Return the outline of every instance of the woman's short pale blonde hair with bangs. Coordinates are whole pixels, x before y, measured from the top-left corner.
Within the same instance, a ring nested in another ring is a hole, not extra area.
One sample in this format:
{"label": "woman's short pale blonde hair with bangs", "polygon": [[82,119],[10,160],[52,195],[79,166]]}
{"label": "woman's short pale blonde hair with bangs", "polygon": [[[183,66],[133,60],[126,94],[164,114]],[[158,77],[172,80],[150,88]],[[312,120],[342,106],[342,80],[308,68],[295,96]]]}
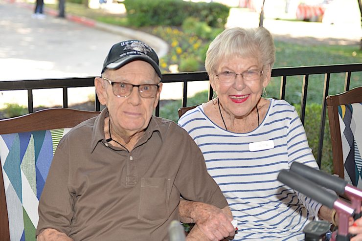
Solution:
{"label": "woman's short pale blonde hair with bangs", "polygon": [[275,62],[275,46],[271,33],[264,27],[225,29],[210,44],[206,52],[205,68],[211,76],[220,60],[233,56],[256,58],[271,71]]}

